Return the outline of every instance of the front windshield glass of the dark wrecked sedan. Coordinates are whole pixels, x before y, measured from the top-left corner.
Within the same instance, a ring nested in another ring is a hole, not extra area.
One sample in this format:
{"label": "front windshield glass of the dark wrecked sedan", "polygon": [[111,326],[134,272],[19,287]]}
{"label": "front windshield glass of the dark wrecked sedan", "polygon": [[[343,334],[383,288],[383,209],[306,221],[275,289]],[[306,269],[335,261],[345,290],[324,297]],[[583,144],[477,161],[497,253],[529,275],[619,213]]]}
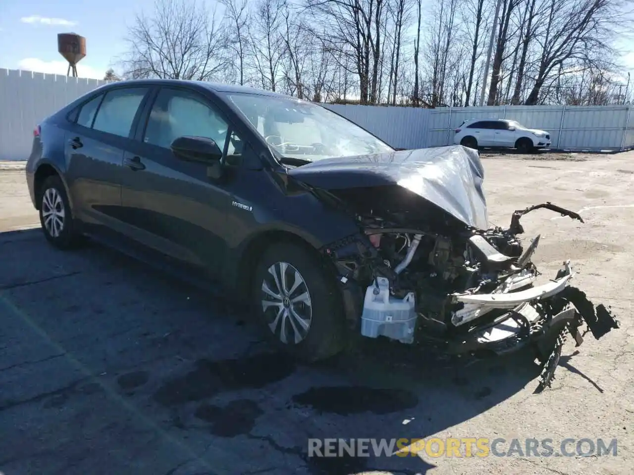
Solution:
{"label": "front windshield glass of the dark wrecked sedan", "polygon": [[229,99],[281,158],[313,162],[394,151],[353,122],[301,99],[258,94]]}

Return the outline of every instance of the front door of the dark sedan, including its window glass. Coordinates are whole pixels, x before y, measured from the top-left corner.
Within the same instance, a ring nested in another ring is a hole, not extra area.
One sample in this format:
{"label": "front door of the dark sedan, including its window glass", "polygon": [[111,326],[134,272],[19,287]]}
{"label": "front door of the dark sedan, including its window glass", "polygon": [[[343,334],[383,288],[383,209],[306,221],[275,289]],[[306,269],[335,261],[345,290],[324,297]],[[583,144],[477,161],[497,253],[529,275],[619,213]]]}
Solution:
{"label": "front door of the dark sedan, including its window glass", "polygon": [[207,137],[226,153],[227,120],[198,92],[162,87],[137,136],[124,154],[122,210],[129,237],[220,271],[230,239],[231,195],[223,179],[214,178],[214,164],[179,160],[170,145],[181,136]]}

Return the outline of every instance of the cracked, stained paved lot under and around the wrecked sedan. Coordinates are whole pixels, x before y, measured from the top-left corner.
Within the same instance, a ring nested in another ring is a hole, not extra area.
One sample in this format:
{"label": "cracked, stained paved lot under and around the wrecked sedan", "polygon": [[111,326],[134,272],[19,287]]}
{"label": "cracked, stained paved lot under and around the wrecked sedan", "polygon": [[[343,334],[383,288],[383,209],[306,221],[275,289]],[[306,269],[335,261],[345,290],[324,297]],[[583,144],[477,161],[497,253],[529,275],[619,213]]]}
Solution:
{"label": "cracked, stained paved lot under and around the wrecked sedan", "polygon": [[[581,213],[585,224],[545,210],[522,219],[526,238],[541,233],[534,261],[554,276],[571,259],[574,284],[621,324],[568,342],[540,394],[539,368],[521,354],[462,367],[377,346],[295,365],[212,296],[96,244],[53,250],[20,165],[4,163],[0,472],[631,474],[634,153],[482,156],[491,222],[544,201]],[[309,438],[434,436],[550,438],[555,451],[566,438],[616,438],[618,453],[306,456]]]}

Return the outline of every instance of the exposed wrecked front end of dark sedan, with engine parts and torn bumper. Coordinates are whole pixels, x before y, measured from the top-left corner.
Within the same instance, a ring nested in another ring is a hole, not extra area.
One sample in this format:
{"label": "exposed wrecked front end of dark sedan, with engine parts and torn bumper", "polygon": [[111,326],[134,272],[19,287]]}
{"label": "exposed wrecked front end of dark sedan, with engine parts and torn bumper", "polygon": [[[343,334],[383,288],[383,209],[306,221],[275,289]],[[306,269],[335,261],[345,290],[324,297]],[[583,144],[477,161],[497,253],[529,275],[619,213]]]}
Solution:
{"label": "exposed wrecked front end of dark sedan, with engine parts and torn bumper", "polygon": [[361,334],[431,343],[455,355],[501,355],[535,343],[545,368],[540,384],[550,385],[565,333],[578,346],[584,321],[595,338],[618,322],[568,287],[569,262],[550,282],[534,286],[540,272],[531,257],[540,236],[524,247],[517,234],[524,231],[519,218],[540,208],[583,222],[551,203],[516,211],[508,229],[465,227],[451,236],[359,216],[365,236],[326,252],[344,286],[354,281],[365,289]]}

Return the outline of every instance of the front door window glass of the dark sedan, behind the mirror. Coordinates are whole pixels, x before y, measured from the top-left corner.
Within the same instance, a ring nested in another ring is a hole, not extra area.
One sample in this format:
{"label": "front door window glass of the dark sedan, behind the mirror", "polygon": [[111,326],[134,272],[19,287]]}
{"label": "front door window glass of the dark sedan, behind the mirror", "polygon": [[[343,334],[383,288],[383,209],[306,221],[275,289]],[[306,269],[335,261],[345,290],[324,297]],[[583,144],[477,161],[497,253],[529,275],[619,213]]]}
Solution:
{"label": "front door window glass of the dark sedan, behind the mirror", "polygon": [[228,128],[219,111],[195,92],[164,88],[150,111],[143,141],[169,148],[178,137],[205,137],[224,150]]}

